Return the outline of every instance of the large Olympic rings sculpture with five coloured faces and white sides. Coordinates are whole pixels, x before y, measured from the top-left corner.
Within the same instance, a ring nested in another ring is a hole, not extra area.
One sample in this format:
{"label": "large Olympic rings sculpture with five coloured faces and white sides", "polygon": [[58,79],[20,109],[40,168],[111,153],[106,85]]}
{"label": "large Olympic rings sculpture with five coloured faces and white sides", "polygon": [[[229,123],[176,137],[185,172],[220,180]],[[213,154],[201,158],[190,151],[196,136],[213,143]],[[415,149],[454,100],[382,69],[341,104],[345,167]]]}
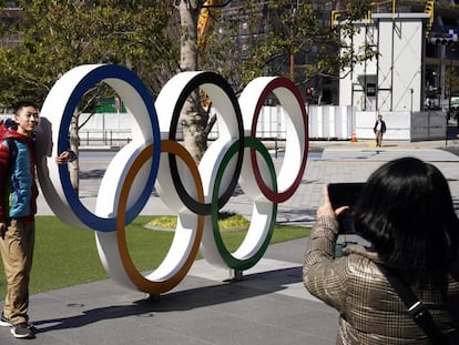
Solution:
{"label": "large Olympic rings sculpture with five coloured faces and white sides", "polygon": [[[136,126],[133,141],[109,164],[93,213],[74,193],[68,166],[55,164],[54,156],[68,149],[69,126],[79,101],[99,82],[108,83],[120,95]],[[198,166],[175,138],[182,106],[197,88],[210,95],[218,119],[218,139]],[[258,114],[272,93],[286,114],[285,158],[278,173],[267,149],[255,138]],[[254,266],[269,244],[277,204],[295,193],[307,161],[305,106],[297,88],[285,78],[257,78],[237,99],[216,73],[183,72],[173,77],[154,101],[126,68],[86,64],[57,81],[41,116],[37,168],[50,207],[64,222],[94,230],[101,262],[116,283],[150,294],[176,286],[200,248],[213,265],[236,271]],[[217,214],[237,184],[253,200],[253,213],[243,243],[231,253],[221,237]],[[144,276],[130,257],[124,231],[153,187],[177,214],[177,227],[163,262]]]}

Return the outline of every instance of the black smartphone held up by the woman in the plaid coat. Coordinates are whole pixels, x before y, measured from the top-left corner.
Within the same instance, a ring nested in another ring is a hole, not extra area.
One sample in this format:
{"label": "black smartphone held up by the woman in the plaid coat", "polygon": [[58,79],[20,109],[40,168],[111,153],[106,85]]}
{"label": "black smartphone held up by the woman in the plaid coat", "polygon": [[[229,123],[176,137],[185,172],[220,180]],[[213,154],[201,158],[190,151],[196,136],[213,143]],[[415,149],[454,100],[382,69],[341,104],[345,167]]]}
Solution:
{"label": "black smartphone held up by the woman in the plaid coat", "polygon": [[349,206],[350,210],[338,216],[339,234],[354,234],[353,207],[360,195],[364,182],[330,183],[328,184],[328,197],[334,210]]}

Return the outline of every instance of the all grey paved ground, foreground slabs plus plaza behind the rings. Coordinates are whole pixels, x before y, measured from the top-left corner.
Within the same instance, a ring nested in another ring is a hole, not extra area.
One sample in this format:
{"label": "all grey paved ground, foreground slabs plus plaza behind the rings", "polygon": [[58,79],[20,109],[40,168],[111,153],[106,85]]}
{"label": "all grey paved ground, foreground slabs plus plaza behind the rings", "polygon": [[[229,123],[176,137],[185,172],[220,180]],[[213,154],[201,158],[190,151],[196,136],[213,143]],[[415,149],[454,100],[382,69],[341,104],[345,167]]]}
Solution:
{"label": "all grey paved ground, foreground slabs plus plaza behind the rings", "polygon": [[[459,142],[314,142],[322,160],[307,162],[294,197],[278,209],[278,223],[314,222],[322,189],[329,182],[365,181],[384,162],[418,156],[437,165],[448,179],[459,212]],[[279,164],[279,162],[276,162]],[[86,166],[100,170],[103,162]],[[93,207],[98,179],[82,181],[82,200]],[[41,214],[51,211],[40,200]],[[251,217],[252,201],[233,196],[225,207]],[[143,214],[170,214],[152,195]],[[225,282],[228,272],[196,261],[177,287],[156,301],[128,291],[111,280],[31,296],[30,316],[39,333],[34,344],[335,344],[338,315],[312,297],[302,284],[306,239],[271,245],[244,280]],[[17,344],[0,328],[0,344]]]}

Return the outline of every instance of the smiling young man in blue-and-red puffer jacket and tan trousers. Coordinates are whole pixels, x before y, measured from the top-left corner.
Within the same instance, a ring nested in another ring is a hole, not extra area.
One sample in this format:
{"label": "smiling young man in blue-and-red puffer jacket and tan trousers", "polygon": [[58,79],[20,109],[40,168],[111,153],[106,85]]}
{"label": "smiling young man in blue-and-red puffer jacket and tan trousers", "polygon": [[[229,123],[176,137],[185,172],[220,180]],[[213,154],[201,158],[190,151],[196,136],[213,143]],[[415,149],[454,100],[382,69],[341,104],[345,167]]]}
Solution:
{"label": "smiling young man in blue-and-red puffer jacket and tan trousers", "polygon": [[[4,134],[9,140],[0,142],[0,252],[7,277],[0,326],[11,327],[17,338],[34,337],[28,310],[38,196],[34,132],[39,118],[34,102],[19,102]],[[69,153],[63,152],[55,161],[64,164],[68,158]]]}

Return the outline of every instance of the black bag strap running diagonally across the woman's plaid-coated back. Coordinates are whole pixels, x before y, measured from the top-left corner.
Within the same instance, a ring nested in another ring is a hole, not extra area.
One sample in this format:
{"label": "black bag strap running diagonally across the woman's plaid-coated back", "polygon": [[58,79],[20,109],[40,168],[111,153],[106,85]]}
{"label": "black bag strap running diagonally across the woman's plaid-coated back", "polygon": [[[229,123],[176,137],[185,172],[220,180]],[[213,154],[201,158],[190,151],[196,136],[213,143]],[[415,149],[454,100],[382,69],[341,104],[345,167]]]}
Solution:
{"label": "black bag strap running diagonally across the woman's plaid-coated back", "polygon": [[409,316],[411,316],[415,323],[422,328],[432,344],[448,344],[446,336],[440,331],[438,325],[434,322],[429,310],[422,304],[422,302],[418,300],[416,294],[400,277],[400,275],[392,270],[389,272],[389,270],[382,265],[377,265],[390,285],[394,287],[396,293],[399,295],[400,300],[404,302],[405,306],[408,310]]}

